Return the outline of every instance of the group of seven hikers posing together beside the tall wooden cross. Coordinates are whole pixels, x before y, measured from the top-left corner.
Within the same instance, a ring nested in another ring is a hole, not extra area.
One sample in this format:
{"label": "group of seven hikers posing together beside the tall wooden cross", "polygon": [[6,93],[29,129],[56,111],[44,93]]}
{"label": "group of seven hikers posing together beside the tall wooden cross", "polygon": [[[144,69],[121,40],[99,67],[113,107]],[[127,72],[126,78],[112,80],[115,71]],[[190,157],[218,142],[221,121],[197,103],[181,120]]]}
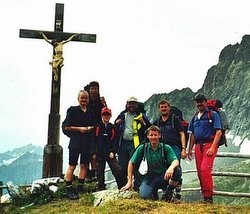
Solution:
{"label": "group of seven hikers posing together beside the tall wooden cross", "polygon": [[[98,190],[106,189],[108,163],[121,191],[134,190],[143,199],[175,202],[181,200],[181,159],[195,155],[197,174],[205,203],[213,203],[212,168],[222,135],[220,116],[207,108],[207,97],[194,97],[197,113],[185,127],[171,112],[171,104],[158,104],[159,118],[150,121],[137,98],[130,97],[126,108],[110,122],[112,111],[100,96],[99,83],[90,82],[78,94],[78,106],[70,107],[62,131],[70,138],[69,166],[65,173],[66,194],[78,199],[84,182],[97,180]],[[77,186],[74,170],[80,158]],[[90,167],[89,167],[90,166]]]}

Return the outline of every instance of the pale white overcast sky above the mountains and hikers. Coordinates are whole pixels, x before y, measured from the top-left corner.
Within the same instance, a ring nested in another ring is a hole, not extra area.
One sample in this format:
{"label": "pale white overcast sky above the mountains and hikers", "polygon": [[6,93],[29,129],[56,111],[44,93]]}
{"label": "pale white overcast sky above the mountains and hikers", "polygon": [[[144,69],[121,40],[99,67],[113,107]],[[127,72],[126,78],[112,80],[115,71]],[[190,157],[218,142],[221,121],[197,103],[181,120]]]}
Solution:
{"label": "pale white overcast sky above the mountains and hikers", "polygon": [[64,46],[61,122],[93,80],[112,121],[129,96],[197,91],[220,51],[250,32],[249,0],[1,0],[0,152],[47,143],[52,46],[19,38],[19,29],[53,31],[55,3],[64,3],[65,32],[97,35]]}

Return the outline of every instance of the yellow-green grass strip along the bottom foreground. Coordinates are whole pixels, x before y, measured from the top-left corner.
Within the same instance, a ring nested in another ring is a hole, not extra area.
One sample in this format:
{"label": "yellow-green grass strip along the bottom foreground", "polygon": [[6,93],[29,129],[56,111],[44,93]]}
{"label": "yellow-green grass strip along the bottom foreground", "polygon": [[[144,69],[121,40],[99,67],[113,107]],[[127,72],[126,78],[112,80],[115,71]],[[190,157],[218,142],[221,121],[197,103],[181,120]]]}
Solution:
{"label": "yellow-green grass strip along the bottom foreground", "polygon": [[[0,210],[1,212],[1,210]],[[250,213],[250,206],[236,205],[207,205],[201,203],[171,204],[161,201],[141,200],[138,198],[110,201],[98,207],[93,207],[86,195],[82,195],[79,201],[66,199],[55,200],[52,203],[29,207],[26,209],[2,207],[1,213]]]}

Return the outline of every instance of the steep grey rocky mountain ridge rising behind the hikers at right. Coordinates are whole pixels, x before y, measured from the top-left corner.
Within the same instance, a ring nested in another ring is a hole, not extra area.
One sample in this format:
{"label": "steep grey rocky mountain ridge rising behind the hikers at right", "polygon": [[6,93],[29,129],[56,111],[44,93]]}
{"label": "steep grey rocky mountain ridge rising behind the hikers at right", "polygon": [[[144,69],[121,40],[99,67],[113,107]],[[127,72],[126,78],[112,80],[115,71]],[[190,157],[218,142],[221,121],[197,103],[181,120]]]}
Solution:
{"label": "steep grey rocky mountain ridge rising behind the hikers at right", "polygon": [[209,99],[220,99],[226,110],[233,138],[240,136],[242,143],[250,146],[250,35],[242,37],[241,43],[227,45],[219,54],[219,61],[208,69],[202,87],[193,92],[190,88],[154,94],[145,103],[147,116],[155,120],[158,103],[167,99],[178,106],[184,118],[191,120],[196,107],[193,98],[196,93],[205,93]]}

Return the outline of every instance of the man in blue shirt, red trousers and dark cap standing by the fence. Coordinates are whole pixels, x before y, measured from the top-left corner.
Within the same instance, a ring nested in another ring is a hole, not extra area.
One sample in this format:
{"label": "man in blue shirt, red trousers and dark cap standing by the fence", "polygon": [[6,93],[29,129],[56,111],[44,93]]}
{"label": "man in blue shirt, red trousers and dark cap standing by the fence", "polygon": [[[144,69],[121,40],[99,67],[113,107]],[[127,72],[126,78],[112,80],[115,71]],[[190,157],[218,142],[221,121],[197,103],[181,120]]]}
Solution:
{"label": "man in blue shirt, red trousers and dark cap standing by the fence", "polygon": [[198,112],[188,127],[191,133],[188,158],[192,159],[192,150],[195,145],[195,162],[204,202],[212,204],[212,169],[221,137],[221,120],[217,112],[207,108],[207,98],[204,94],[197,94],[194,101]]}

